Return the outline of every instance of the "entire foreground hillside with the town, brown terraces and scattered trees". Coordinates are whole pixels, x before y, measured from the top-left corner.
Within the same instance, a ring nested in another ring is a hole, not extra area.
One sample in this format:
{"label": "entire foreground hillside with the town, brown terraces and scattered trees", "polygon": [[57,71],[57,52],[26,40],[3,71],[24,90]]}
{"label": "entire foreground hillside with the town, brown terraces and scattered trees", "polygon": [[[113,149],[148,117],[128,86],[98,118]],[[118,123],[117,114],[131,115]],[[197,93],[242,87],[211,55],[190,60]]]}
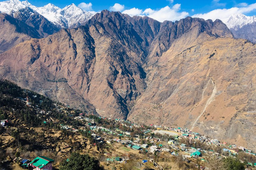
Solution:
{"label": "entire foreground hillside with the town, brown terraces and scattered trees", "polygon": [[[137,169],[165,170],[168,160],[169,169],[208,170],[210,159],[229,157],[237,158],[247,169],[256,168],[254,151],[188,128],[102,117],[52,102],[29,90],[20,93],[23,95],[12,98],[22,106],[20,109],[13,107],[9,112],[1,107],[0,147],[4,152],[0,165],[8,165],[6,169],[59,169],[77,151],[97,158],[105,169],[125,169],[136,162],[133,166]],[[28,115],[19,117],[24,109]]]}

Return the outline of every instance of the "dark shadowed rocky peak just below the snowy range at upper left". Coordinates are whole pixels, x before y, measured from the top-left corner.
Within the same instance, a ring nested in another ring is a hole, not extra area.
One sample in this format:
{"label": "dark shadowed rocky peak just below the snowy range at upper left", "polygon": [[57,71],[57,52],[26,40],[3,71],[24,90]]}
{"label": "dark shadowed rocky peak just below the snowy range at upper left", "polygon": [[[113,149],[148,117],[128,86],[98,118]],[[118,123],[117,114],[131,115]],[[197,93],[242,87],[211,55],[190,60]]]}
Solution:
{"label": "dark shadowed rocky peak just below the snowy range at upper left", "polygon": [[22,8],[16,11],[13,13],[13,17],[35,28],[42,37],[47,37],[48,35],[60,30],[58,26],[48,21],[48,19],[44,18],[30,7]]}

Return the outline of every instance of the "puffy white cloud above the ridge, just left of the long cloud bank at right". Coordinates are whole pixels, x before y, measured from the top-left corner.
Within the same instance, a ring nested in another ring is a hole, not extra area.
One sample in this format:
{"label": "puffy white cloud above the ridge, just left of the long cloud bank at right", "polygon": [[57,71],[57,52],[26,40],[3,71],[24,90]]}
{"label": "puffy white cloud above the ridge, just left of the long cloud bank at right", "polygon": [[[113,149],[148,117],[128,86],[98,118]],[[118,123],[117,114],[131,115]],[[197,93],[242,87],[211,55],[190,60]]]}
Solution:
{"label": "puffy white cloud above the ridge, just left of the long cloud bank at right", "polygon": [[[160,22],[163,22],[165,20],[168,21],[176,21],[180,20],[182,18],[185,18],[189,15],[188,12],[179,12],[180,11],[180,4],[175,4],[171,8],[169,6],[165,6],[164,8],[161,8],[159,10],[152,10],[150,13],[148,13],[148,17],[156,19]],[[145,14],[147,14],[144,11]]]}

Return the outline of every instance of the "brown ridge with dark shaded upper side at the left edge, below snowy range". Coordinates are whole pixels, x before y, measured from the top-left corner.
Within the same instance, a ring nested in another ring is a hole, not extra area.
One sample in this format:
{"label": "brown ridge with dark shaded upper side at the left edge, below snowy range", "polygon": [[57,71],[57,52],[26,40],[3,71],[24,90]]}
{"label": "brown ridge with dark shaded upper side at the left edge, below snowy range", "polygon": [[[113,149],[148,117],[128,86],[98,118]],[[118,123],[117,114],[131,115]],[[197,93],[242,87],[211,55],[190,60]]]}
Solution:
{"label": "brown ridge with dark shaded upper side at the left edge, below snowy range", "polygon": [[36,29],[7,14],[0,14],[0,53],[20,42],[41,38]]}

